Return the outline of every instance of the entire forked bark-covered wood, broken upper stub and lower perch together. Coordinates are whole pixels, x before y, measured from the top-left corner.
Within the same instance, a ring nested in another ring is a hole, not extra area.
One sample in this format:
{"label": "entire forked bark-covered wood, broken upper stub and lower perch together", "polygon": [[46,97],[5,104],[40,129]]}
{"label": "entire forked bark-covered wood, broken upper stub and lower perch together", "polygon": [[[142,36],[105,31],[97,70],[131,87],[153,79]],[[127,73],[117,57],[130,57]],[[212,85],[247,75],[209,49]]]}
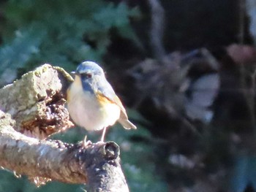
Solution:
{"label": "entire forked bark-covered wood, broken upper stub and lower perch together", "polygon": [[36,185],[57,180],[86,183],[88,191],[129,191],[115,142],[84,146],[42,139],[72,126],[64,108],[71,80],[46,64],[0,90],[0,166]]}

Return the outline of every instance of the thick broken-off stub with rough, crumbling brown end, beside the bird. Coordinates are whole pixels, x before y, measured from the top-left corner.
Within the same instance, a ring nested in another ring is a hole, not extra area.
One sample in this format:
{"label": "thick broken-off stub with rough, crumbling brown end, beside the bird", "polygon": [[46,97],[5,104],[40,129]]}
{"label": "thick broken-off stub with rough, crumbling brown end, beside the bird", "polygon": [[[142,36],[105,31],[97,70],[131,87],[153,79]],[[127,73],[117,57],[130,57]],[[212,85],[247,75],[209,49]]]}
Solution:
{"label": "thick broken-off stub with rough, crumbling brown end, beside the bird", "polygon": [[44,139],[72,126],[64,107],[72,77],[63,69],[45,64],[0,89],[0,110],[12,115],[15,130]]}

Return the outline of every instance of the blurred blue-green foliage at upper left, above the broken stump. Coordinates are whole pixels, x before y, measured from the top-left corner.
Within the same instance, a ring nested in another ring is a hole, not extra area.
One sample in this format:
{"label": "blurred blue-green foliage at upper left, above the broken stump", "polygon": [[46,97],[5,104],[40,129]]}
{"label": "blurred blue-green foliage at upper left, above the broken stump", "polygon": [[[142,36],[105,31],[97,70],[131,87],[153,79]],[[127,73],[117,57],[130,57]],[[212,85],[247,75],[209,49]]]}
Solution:
{"label": "blurred blue-green foliage at upper left, above the broken stump", "polygon": [[[50,63],[69,71],[74,69],[72,64],[83,60],[102,61],[111,43],[111,31],[138,41],[129,18],[138,17],[140,12],[122,2],[7,1],[2,11],[6,20],[1,26],[2,75],[7,73],[6,66],[15,73],[20,68],[24,72]],[[0,84],[8,82],[4,77]]]}

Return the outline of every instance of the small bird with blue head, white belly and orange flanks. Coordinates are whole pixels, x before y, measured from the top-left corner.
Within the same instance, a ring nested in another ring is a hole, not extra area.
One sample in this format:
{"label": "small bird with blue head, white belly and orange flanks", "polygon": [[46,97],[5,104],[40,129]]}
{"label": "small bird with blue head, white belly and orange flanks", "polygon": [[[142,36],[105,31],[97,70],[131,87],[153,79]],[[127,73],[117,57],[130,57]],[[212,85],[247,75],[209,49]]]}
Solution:
{"label": "small bird with blue head, white belly and orange flanks", "polygon": [[108,126],[118,121],[124,128],[136,128],[106,80],[103,69],[93,61],[83,61],[75,71],[75,80],[67,90],[67,109],[78,126],[88,131],[103,129],[104,141]]}

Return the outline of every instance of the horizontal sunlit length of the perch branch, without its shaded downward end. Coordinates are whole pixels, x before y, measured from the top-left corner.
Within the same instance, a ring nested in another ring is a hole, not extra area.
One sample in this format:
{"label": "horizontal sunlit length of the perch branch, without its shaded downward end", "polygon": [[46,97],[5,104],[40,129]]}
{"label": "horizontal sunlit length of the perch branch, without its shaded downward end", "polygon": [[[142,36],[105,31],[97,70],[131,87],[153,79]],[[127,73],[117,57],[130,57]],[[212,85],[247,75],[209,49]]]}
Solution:
{"label": "horizontal sunlit length of the perch branch, without its shaded downward end", "polygon": [[[17,174],[45,177],[65,183],[86,183],[86,174],[75,159],[74,145],[26,137],[10,125],[10,116],[1,112],[0,165]],[[9,120],[8,120],[9,118]]]}

